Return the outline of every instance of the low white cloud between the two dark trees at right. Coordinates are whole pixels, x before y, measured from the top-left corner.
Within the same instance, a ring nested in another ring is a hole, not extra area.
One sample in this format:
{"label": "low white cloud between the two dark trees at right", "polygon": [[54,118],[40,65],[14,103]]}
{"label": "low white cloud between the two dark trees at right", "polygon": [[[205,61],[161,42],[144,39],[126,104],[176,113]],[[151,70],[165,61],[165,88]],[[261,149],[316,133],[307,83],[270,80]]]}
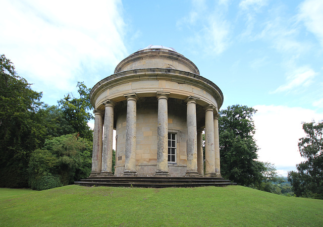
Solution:
{"label": "low white cloud between the two dark trees at right", "polygon": [[275,105],[256,105],[258,111],[253,120],[256,127],[254,138],[260,150],[260,161],[276,165],[279,173],[286,176],[287,171],[303,161],[299,154],[299,139],[305,136],[302,122],[316,122],[323,119],[323,113],[301,107]]}

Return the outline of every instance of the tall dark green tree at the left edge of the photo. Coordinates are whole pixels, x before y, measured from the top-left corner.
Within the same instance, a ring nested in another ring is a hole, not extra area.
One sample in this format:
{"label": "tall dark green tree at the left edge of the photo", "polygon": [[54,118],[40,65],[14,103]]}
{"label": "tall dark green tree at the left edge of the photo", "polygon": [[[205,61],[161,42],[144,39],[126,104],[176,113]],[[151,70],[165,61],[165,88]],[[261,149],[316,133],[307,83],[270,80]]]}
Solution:
{"label": "tall dark green tree at the left edge of the photo", "polygon": [[0,187],[28,186],[30,153],[42,146],[46,129],[33,91],[5,55],[0,57]]}

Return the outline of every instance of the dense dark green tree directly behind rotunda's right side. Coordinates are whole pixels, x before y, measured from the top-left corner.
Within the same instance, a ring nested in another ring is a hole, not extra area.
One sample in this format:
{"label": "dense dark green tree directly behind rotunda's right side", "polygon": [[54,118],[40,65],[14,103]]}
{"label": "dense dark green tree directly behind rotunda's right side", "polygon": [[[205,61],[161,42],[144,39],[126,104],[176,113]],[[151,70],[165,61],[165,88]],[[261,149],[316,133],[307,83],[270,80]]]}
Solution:
{"label": "dense dark green tree directly behind rotunda's right side", "polygon": [[257,161],[258,147],[253,138],[255,109],[232,105],[220,111],[219,136],[221,174],[239,185],[259,186],[265,166]]}

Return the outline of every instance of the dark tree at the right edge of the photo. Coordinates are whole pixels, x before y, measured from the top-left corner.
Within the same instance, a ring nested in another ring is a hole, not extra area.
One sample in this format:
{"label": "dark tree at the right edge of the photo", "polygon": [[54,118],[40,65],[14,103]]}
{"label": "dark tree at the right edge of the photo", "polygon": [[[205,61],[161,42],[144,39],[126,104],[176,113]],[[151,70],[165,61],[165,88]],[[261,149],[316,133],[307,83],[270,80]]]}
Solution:
{"label": "dark tree at the right edge of the photo", "polygon": [[306,160],[288,173],[288,181],[296,196],[323,199],[323,121],[303,123],[303,130],[298,149]]}

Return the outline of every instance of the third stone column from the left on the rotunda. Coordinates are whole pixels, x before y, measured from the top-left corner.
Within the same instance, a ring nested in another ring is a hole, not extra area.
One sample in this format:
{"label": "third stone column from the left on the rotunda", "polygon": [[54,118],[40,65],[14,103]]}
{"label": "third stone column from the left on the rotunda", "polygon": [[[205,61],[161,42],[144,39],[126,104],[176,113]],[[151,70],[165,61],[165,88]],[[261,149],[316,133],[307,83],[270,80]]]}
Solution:
{"label": "third stone column from the left on the rotunda", "polygon": [[127,97],[126,125],[126,160],[124,175],[137,175],[136,172],[136,129],[137,129],[137,96],[135,93]]}

